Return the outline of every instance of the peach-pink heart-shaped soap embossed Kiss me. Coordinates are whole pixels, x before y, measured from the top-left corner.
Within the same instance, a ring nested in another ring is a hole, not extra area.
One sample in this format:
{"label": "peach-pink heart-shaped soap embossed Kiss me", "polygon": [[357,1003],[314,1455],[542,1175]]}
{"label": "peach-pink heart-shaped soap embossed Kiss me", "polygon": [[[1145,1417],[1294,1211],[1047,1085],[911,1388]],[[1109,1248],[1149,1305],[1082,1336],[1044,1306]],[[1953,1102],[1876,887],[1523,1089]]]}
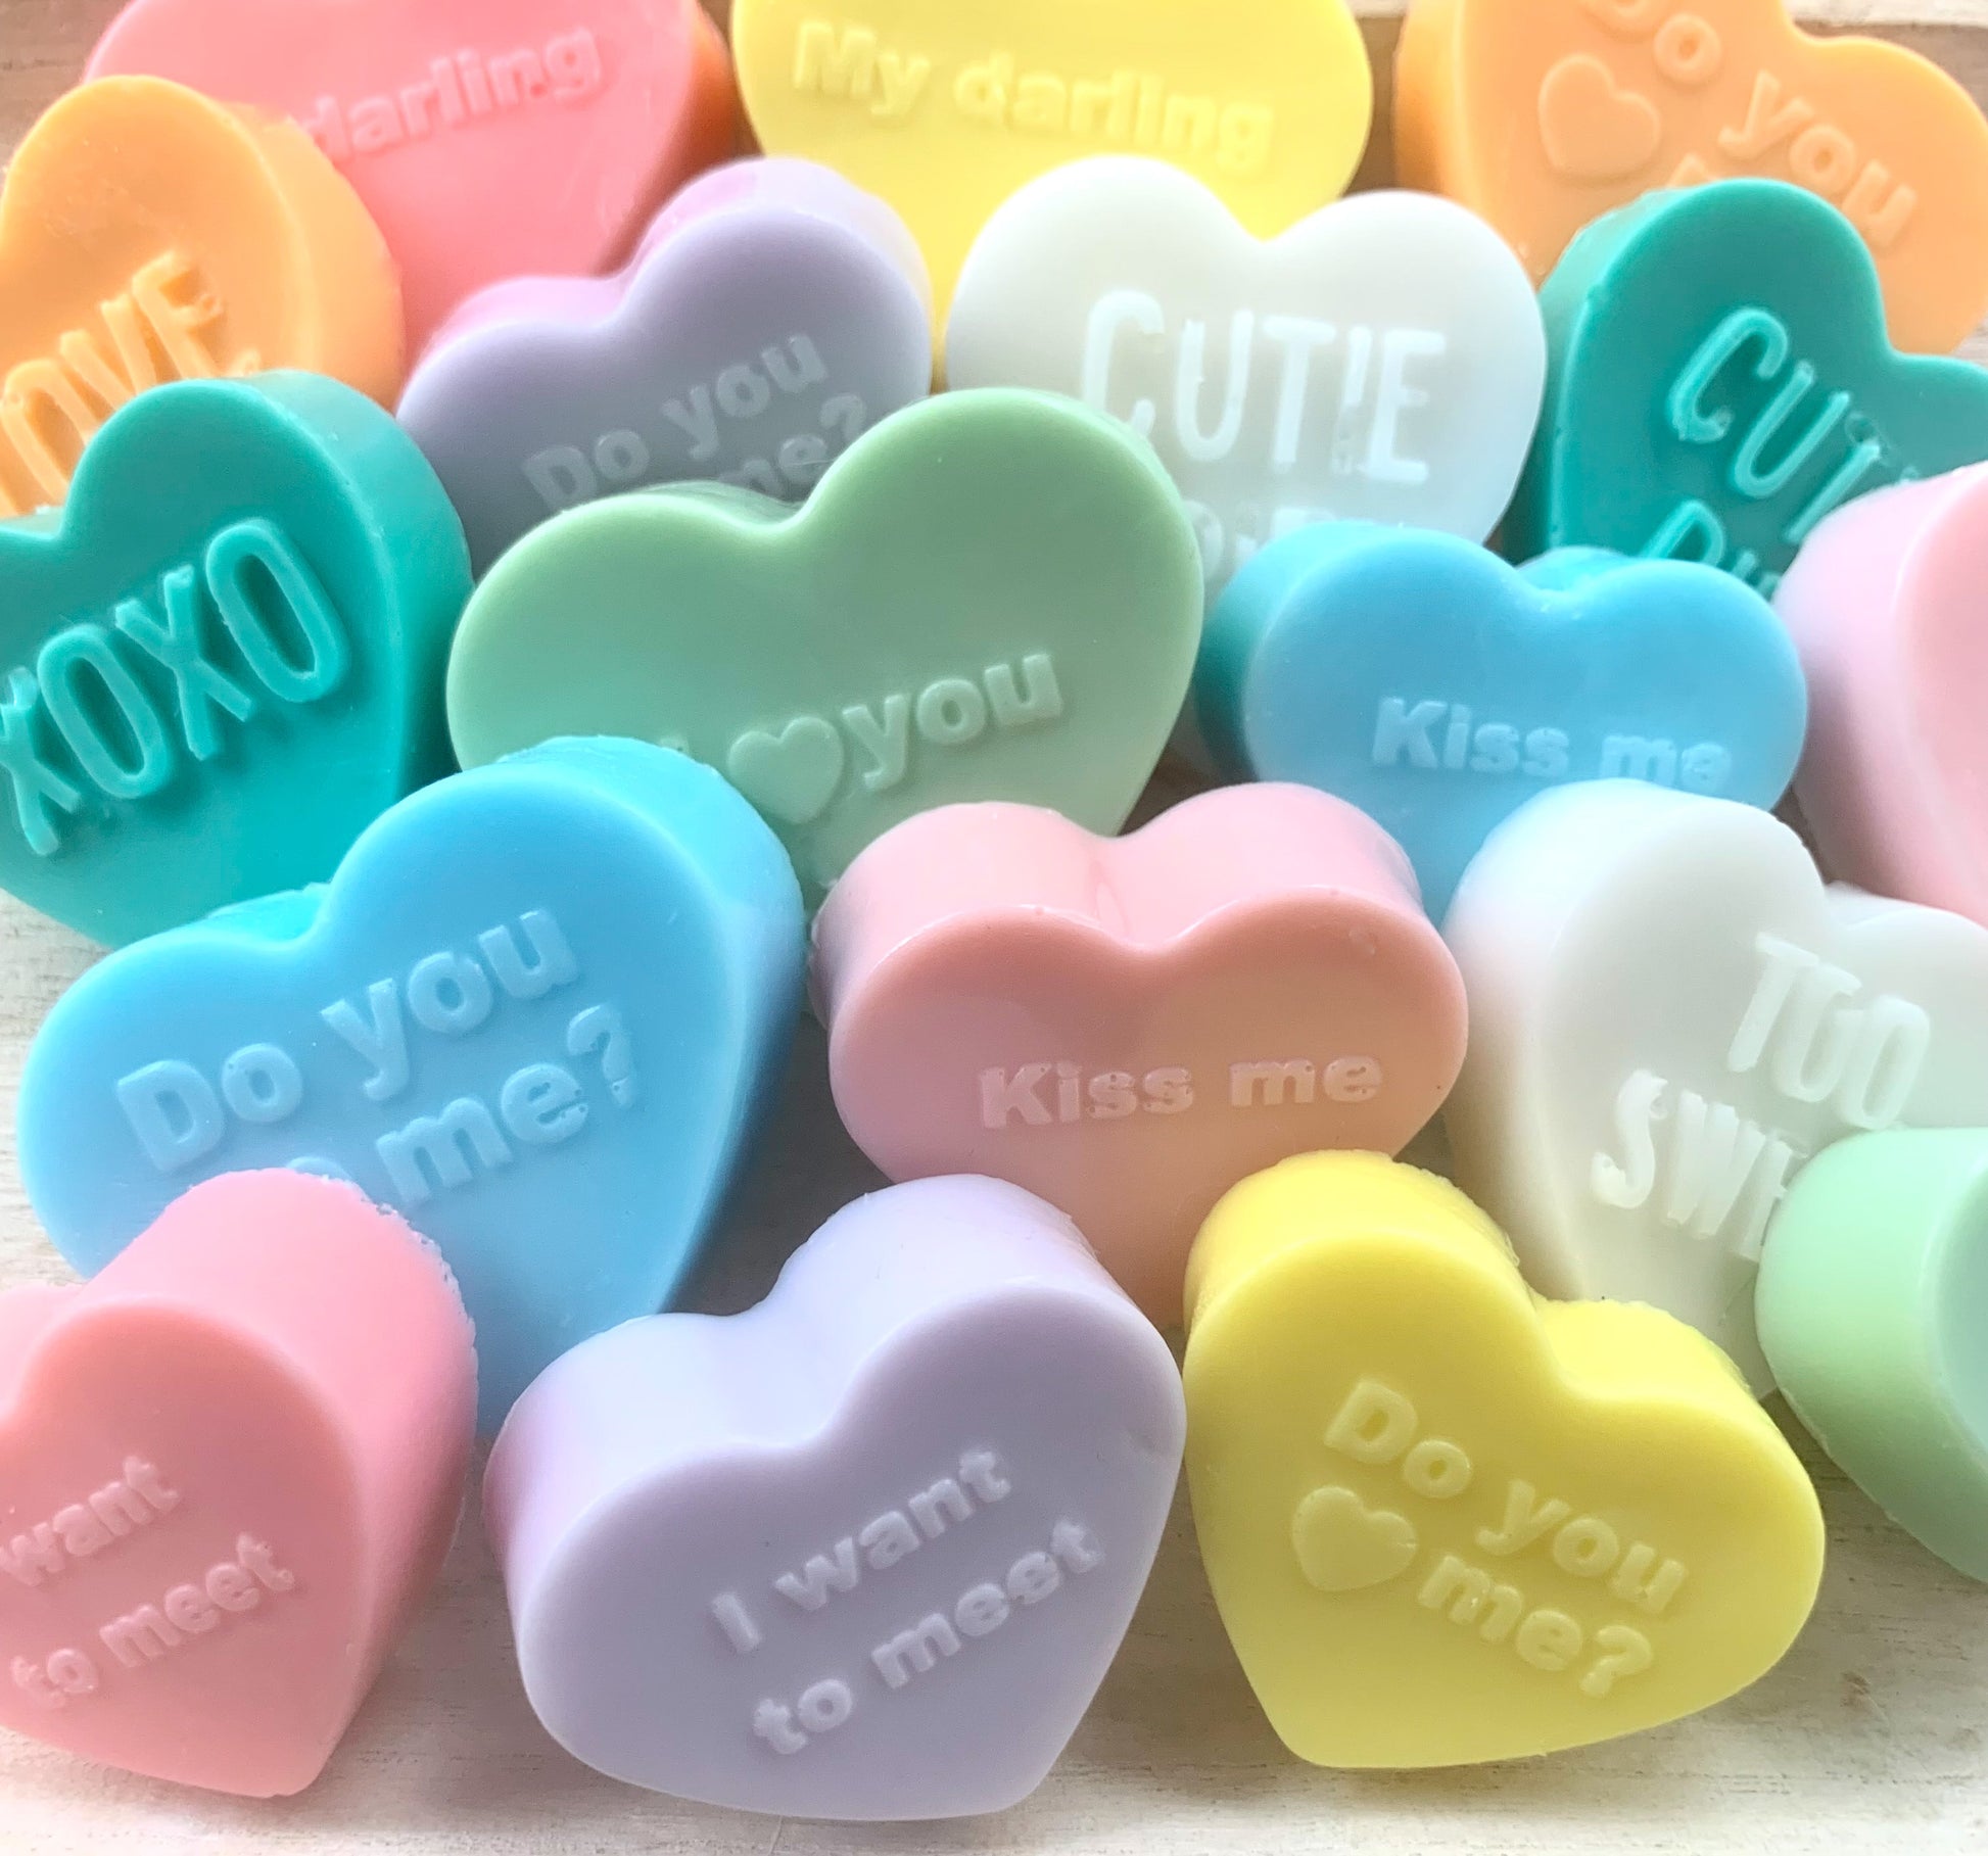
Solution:
{"label": "peach-pink heart-shaped soap embossed Kiss me", "polygon": [[1129,839],[1016,805],[899,825],[815,922],[843,1123],[893,1178],[982,1172],[1070,1212],[1155,1321],[1242,1174],[1398,1153],[1463,1061],[1463,986],[1400,849],[1308,787]]}

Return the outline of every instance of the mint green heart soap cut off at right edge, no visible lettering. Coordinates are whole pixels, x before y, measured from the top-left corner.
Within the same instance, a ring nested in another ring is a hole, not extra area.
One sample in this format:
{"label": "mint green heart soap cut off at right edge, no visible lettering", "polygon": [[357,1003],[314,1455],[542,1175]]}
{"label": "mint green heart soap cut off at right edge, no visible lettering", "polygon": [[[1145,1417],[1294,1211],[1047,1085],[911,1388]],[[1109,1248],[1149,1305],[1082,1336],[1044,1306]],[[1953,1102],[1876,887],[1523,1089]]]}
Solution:
{"label": "mint green heart soap cut off at right edge, no visible lettering", "polygon": [[1988,1580],[1988,1133],[1841,1141],[1767,1230],[1755,1319],[1787,1403],[1899,1526]]}

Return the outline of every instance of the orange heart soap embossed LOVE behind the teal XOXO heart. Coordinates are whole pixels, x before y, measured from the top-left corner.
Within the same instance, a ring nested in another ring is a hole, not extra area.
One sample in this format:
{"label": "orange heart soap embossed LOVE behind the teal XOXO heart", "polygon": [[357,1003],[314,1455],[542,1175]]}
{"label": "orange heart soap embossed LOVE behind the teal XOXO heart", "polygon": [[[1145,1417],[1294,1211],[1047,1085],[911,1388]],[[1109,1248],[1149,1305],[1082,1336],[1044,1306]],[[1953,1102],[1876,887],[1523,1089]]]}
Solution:
{"label": "orange heart soap embossed LOVE behind the teal XOXO heart", "polygon": [[62,503],[83,445],[165,380],[304,368],[384,405],[400,282],[288,123],[119,77],[56,103],[0,195],[0,517]]}

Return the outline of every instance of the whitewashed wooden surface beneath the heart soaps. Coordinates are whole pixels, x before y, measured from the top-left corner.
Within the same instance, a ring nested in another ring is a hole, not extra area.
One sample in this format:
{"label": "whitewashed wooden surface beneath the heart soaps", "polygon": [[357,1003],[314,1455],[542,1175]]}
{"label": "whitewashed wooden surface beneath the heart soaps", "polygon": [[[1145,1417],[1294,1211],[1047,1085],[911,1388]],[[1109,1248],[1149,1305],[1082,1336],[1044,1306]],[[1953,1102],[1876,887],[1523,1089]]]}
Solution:
{"label": "whitewashed wooden surface beneath the heart soaps", "polygon": [[[0,0],[0,145],[74,81],[111,10],[113,0]],[[1362,0],[1358,10],[1374,16],[1370,36],[1386,50],[1402,0]],[[1883,24],[1988,95],[1988,0],[1819,0],[1797,12]],[[28,1037],[89,958],[76,936],[0,898],[0,1131],[14,1123]],[[835,1127],[819,1033],[803,1035],[767,1155],[704,1284],[706,1308],[755,1300],[793,1244],[877,1182]],[[0,1290],[66,1274],[34,1228],[12,1143],[0,1135]],[[0,1735],[0,1852],[1980,1856],[1988,1592],[1889,1528],[1827,1465],[1815,1469],[1831,1562],[1815,1622],[1787,1661],[1696,1721],[1553,1761],[1392,1777],[1294,1765],[1250,1703],[1177,1512],[1117,1667],[1026,1806],[982,1822],[893,1828],[696,1810],[596,1779],[543,1735],[519,1691],[501,1590],[471,1522],[417,1629],[304,1798],[205,1798]]]}

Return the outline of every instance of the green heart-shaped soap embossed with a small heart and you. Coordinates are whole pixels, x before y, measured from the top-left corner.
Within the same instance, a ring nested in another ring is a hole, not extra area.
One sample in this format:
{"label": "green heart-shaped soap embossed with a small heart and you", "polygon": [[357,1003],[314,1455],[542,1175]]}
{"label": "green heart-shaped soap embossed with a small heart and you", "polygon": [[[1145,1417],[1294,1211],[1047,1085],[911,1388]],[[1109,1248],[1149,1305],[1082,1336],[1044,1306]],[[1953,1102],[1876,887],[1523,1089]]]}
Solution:
{"label": "green heart-shaped soap embossed with a small heart and you", "polygon": [[1201,552],[1139,437],[1052,393],[946,393],[809,503],[724,485],[575,509],[505,554],[449,660],[465,767],[634,735],[722,771],[813,894],[976,799],[1111,833],[1187,692]]}

